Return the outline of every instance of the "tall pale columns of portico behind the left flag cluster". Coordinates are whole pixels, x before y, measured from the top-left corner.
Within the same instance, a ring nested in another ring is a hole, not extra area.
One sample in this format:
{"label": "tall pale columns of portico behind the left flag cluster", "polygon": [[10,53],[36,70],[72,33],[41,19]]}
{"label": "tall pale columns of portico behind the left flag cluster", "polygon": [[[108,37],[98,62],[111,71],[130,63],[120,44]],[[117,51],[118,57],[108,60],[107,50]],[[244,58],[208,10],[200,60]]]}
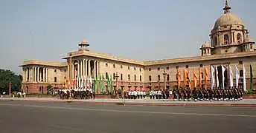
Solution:
{"label": "tall pale columns of portico behind the left flag cluster", "polygon": [[[74,60],[71,64],[71,68],[68,66],[68,71],[71,71],[71,75],[68,77],[77,78],[84,76],[92,76],[92,78],[100,75],[100,61],[90,59]],[[70,72],[68,72],[69,74]]]}

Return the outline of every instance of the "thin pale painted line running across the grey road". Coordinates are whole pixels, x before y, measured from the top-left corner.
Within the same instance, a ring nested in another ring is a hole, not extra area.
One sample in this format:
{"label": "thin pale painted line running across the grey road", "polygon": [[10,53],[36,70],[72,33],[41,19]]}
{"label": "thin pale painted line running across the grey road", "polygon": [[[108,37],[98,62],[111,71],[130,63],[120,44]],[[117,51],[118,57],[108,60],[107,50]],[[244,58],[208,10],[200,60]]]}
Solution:
{"label": "thin pale painted line running across the grey road", "polygon": [[179,112],[144,112],[132,110],[109,110],[109,109],[87,109],[87,108],[71,108],[71,107],[57,107],[57,106],[32,106],[25,104],[5,104],[0,103],[0,106],[23,106],[33,108],[45,109],[69,109],[69,110],[83,110],[83,111],[97,111],[97,112],[128,112],[128,113],[145,113],[145,114],[162,114],[162,115],[205,115],[205,116],[226,116],[226,117],[256,117],[256,115],[225,115],[225,114],[204,114],[204,113],[179,113]]}

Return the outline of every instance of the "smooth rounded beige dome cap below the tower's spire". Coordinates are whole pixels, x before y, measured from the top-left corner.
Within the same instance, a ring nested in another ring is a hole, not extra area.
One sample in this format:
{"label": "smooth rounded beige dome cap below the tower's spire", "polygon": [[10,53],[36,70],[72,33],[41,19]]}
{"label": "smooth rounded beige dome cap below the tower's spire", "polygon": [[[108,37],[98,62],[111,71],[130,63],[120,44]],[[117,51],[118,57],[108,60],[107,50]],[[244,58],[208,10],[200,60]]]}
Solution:
{"label": "smooth rounded beige dome cap below the tower's spire", "polygon": [[225,13],[222,16],[220,16],[220,18],[217,18],[217,21],[214,24],[214,29],[219,26],[222,27],[231,24],[244,26],[243,22],[237,15],[234,15],[233,13]]}

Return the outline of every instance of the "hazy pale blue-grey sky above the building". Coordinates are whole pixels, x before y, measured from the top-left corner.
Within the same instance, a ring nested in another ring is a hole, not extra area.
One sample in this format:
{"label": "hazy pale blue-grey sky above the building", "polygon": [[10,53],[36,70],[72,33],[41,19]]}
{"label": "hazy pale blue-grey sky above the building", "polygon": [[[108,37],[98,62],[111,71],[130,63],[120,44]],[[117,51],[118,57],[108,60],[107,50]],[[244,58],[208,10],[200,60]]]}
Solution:
{"label": "hazy pale blue-grey sky above the building", "polygon": [[[225,0],[0,0],[0,68],[90,50],[141,61],[200,55]],[[230,0],[256,39],[255,0]]]}

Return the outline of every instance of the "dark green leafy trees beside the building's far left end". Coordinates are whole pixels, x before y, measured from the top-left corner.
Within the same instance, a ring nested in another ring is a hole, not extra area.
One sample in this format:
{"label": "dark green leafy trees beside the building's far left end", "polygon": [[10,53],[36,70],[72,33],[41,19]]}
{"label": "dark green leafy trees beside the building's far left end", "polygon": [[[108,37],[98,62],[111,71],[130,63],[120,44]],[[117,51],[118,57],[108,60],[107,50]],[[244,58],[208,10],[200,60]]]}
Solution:
{"label": "dark green leafy trees beside the building's far left end", "polygon": [[16,75],[9,69],[0,69],[0,92],[9,93],[9,82],[11,92],[19,91],[22,86],[22,75]]}

